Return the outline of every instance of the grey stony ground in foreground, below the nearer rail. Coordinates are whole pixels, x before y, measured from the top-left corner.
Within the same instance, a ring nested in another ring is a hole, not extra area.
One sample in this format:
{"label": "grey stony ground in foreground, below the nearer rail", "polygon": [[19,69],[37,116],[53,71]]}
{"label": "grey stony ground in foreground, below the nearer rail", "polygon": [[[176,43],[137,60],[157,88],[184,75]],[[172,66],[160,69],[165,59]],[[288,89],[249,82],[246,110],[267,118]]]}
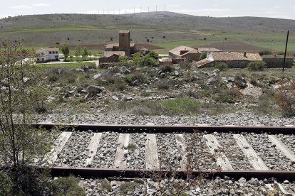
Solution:
{"label": "grey stony ground in foreground, below the nearer rail", "polygon": [[[133,180],[128,182],[82,179],[88,195],[284,195],[274,179],[237,180],[227,176],[212,180]],[[281,182],[286,191],[294,192],[294,183]],[[172,186],[171,186],[172,185]],[[172,189],[171,187],[177,187]]]}

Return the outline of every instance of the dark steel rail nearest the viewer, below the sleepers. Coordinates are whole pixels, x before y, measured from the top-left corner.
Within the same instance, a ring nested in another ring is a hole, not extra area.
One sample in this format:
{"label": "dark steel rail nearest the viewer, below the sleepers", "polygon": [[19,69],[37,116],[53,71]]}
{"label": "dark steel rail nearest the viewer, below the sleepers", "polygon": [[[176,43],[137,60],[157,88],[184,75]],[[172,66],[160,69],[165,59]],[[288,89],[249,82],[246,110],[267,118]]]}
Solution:
{"label": "dark steel rail nearest the viewer, below the sleepers", "polygon": [[[275,178],[276,180],[295,180],[295,170],[192,170],[190,177],[203,174],[205,178],[215,178],[217,176],[229,178],[258,178],[259,180]],[[183,170],[133,170],[133,169],[108,169],[108,168],[51,168],[53,177],[68,175],[81,176],[83,178],[161,178],[173,175],[174,178],[187,178],[187,172]]]}

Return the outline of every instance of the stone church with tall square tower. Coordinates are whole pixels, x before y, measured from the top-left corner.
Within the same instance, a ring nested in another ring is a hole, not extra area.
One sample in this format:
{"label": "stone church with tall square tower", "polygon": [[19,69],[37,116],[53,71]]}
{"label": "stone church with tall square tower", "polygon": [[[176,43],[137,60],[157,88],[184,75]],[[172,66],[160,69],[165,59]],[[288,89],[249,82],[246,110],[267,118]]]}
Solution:
{"label": "stone church with tall square tower", "polygon": [[130,43],[130,31],[119,31],[119,43],[105,45],[105,51],[124,51],[127,56],[135,53],[135,43]]}

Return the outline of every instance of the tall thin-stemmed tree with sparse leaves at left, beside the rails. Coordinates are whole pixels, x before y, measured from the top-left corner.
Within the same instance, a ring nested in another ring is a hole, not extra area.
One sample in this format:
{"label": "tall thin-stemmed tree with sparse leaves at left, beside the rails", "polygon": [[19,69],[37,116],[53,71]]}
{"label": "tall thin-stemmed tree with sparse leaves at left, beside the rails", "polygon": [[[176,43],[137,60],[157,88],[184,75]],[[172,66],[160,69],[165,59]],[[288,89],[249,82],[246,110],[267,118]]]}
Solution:
{"label": "tall thin-stemmed tree with sparse leaves at left, beside the rails", "polygon": [[48,183],[45,171],[30,167],[48,151],[47,132],[31,126],[31,114],[45,98],[34,59],[36,53],[19,41],[0,46],[0,163],[6,168],[0,177],[11,184],[0,192],[8,195],[38,195]]}

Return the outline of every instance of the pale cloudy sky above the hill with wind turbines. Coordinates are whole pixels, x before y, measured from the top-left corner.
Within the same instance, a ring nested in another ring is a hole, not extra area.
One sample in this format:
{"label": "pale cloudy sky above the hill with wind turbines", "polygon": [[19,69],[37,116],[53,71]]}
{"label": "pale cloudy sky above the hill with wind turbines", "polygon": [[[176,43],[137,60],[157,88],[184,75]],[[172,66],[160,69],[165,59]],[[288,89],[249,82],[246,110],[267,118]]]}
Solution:
{"label": "pale cloudy sky above the hill with wind turbines", "polygon": [[[261,16],[295,19],[294,0],[1,0],[0,18],[43,13],[174,11],[195,16]],[[135,8],[135,9],[134,9]]]}

